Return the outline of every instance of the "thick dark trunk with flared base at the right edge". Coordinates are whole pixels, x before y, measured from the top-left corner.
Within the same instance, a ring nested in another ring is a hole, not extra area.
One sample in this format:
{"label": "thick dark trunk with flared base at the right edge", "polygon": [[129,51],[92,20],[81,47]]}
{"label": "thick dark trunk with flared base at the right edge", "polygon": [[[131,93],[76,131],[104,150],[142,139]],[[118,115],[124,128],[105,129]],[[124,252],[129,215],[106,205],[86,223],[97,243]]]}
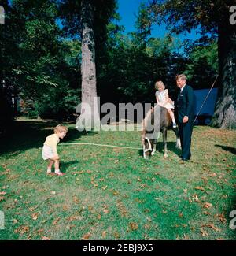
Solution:
{"label": "thick dark trunk with flared base at the right edge", "polygon": [[236,128],[236,25],[219,24],[219,94],[212,126]]}

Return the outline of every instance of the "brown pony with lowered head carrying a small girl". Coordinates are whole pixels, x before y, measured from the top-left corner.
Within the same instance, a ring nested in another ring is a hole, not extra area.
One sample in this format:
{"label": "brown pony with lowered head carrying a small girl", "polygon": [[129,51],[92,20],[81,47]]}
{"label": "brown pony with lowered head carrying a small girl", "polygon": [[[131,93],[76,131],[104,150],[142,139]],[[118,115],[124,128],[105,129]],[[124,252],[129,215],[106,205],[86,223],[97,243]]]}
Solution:
{"label": "brown pony with lowered head carrying a small girl", "polygon": [[164,158],[168,158],[167,149],[167,131],[173,130],[176,135],[176,147],[181,149],[179,139],[179,129],[172,127],[172,121],[168,110],[162,106],[156,105],[152,107],[146,114],[143,120],[142,130],[142,147],[143,157],[146,158],[149,154],[153,155],[156,151],[157,139],[160,137],[160,132],[163,135],[164,143]]}

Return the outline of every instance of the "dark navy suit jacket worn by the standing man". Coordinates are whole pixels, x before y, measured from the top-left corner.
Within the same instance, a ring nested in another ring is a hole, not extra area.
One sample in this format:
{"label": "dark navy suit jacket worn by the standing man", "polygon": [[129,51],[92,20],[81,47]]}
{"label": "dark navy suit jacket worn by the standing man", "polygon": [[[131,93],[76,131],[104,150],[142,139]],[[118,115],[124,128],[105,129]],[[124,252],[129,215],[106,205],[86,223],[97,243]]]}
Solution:
{"label": "dark navy suit jacket worn by the standing man", "polygon": [[178,119],[183,123],[183,117],[189,117],[189,121],[194,121],[194,90],[186,85],[183,91],[179,92],[178,99]]}

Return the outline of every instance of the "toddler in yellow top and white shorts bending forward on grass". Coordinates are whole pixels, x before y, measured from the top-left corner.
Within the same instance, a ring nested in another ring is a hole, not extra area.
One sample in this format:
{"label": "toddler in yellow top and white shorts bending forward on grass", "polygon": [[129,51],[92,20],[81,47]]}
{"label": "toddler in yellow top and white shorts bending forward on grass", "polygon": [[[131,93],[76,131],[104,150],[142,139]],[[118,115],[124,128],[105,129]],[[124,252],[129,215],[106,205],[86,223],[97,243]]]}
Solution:
{"label": "toddler in yellow top and white shorts bending forward on grass", "polygon": [[[60,142],[60,139],[63,139],[68,132],[68,128],[58,124],[54,128],[54,134],[46,137],[46,141],[43,143],[42,147],[42,158],[43,160],[48,160],[47,165],[47,174],[57,174],[58,176],[63,176],[65,173],[61,173],[59,169],[59,156],[57,154],[57,144]],[[52,173],[52,166],[55,166],[55,173]]]}

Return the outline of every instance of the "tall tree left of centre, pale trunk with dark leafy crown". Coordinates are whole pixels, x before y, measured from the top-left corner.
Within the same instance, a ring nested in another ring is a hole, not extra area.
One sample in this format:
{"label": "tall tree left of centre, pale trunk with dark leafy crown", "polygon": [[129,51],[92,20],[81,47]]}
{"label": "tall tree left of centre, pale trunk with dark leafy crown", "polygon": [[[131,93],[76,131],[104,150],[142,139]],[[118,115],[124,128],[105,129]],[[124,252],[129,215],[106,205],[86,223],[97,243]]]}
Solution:
{"label": "tall tree left of centre, pale trunk with dark leafy crown", "polygon": [[[116,8],[116,0],[101,0],[99,2],[95,0],[65,0],[60,4],[65,32],[67,35],[82,40],[82,109],[80,111],[83,115],[81,118],[86,121],[84,128],[87,126],[88,128],[97,128],[100,119],[96,99],[96,45],[101,46],[104,43],[105,28]],[[87,111],[88,109],[91,112]]]}

